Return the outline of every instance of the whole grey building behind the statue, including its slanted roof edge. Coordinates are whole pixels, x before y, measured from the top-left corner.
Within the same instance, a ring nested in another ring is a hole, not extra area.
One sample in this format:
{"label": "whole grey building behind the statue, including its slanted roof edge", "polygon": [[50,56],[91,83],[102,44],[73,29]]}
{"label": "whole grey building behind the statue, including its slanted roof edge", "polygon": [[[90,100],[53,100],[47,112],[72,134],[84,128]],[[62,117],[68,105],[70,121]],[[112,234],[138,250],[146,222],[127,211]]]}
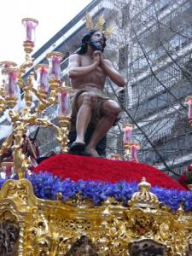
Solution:
{"label": "whole grey building behind the statue, including its slanted roof edge", "polygon": [[[191,126],[184,99],[191,91],[192,3],[190,0],[93,0],[34,55],[34,66],[47,63],[46,54],[65,54],[62,80],[67,78],[68,56],[79,49],[85,15],[103,15],[106,26],[115,28],[108,38],[105,56],[126,80],[124,90],[110,81],[106,92],[124,110],[119,124],[108,133],[108,155],[124,154],[122,126],[135,125],[133,139],[141,143],[139,160],[158,166],[170,175],[180,174],[191,160]],[[32,68],[26,73],[26,77]],[[46,110],[54,120],[55,107]],[[2,117],[2,124],[8,120]],[[36,130],[30,131],[33,135]],[[41,155],[58,152],[53,131],[38,131]],[[171,172],[173,171],[173,172]]]}

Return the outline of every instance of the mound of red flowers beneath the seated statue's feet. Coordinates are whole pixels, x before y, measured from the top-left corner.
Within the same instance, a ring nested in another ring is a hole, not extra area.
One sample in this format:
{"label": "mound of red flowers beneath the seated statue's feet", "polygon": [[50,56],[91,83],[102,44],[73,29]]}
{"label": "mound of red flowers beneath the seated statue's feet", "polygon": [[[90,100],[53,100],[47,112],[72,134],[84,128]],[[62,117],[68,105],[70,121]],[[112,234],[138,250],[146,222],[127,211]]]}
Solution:
{"label": "mound of red flowers beneath the seated statue's feet", "polygon": [[182,185],[153,166],[74,154],[51,156],[49,159],[41,162],[33,171],[47,171],[61,177],[61,179],[69,177],[74,181],[90,179],[112,183],[122,180],[140,182],[142,177],[146,177],[148,183],[151,183],[152,186],[158,185],[167,189],[185,190]]}

